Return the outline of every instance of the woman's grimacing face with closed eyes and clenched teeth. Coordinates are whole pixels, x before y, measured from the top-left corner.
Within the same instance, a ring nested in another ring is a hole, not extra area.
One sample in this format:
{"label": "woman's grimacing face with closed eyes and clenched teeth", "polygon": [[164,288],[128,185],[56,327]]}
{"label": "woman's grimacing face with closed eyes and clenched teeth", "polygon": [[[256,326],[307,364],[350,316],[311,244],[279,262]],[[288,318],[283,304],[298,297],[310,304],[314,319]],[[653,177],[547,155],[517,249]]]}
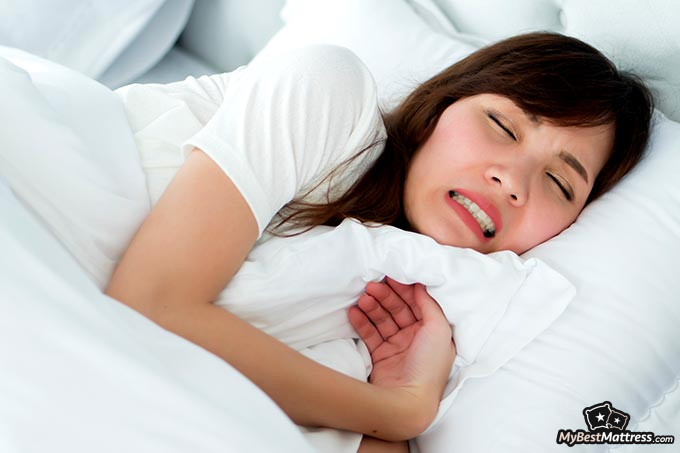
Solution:
{"label": "woman's grimacing face with closed eyes and clenched teeth", "polygon": [[460,99],[411,161],[406,217],[440,244],[521,254],[576,219],[613,137],[611,124],[554,126],[503,96]]}

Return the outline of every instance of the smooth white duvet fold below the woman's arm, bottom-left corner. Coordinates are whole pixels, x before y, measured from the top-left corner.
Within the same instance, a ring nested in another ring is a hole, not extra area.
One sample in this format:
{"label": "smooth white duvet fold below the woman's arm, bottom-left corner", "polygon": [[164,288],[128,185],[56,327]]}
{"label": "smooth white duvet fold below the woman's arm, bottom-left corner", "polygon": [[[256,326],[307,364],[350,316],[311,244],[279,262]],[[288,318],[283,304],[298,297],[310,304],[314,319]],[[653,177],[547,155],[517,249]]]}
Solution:
{"label": "smooth white duvet fold below the woman's arm, bottom-left corner", "polygon": [[314,451],[241,373],[104,296],[1,177],[0,212],[0,451]]}

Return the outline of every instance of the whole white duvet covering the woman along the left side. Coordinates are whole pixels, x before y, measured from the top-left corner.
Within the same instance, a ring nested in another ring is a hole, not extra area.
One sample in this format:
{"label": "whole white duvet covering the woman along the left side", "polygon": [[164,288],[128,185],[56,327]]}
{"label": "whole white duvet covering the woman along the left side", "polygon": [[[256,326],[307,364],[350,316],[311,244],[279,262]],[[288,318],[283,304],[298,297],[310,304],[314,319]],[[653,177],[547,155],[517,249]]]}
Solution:
{"label": "whole white duvet covering the woman along the left side", "polygon": [[0,451],[309,451],[240,373],[102,294],[148,209],[122,106],[0,53],[29,71],[0,58]]}

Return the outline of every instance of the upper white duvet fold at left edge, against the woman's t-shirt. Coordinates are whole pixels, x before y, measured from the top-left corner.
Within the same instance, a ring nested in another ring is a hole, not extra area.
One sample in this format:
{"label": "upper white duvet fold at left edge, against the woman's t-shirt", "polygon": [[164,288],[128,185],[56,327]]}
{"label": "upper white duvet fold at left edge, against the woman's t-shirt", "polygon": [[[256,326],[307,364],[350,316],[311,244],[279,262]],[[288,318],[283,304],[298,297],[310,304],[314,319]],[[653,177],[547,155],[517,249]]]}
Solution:
{"label": "upper white duvet fold at left edge, against the woman's t-shirt", "polygon": [[1,46],[0,86],[0,176],[103,288],[150,210],[120,100]]}

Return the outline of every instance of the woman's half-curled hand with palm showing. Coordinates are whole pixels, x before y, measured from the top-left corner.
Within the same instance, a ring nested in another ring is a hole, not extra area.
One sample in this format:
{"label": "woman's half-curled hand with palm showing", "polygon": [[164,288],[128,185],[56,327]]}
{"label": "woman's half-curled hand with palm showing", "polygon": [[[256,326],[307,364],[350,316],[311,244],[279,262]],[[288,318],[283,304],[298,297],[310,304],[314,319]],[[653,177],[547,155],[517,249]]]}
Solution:
{"label": "woman's half-curled hand with palm showing", "polygon": [[451,327],[420,284],[369,283],[349,319],[373,361],[371,383],[403,388],[436,413],[456,350]]}

